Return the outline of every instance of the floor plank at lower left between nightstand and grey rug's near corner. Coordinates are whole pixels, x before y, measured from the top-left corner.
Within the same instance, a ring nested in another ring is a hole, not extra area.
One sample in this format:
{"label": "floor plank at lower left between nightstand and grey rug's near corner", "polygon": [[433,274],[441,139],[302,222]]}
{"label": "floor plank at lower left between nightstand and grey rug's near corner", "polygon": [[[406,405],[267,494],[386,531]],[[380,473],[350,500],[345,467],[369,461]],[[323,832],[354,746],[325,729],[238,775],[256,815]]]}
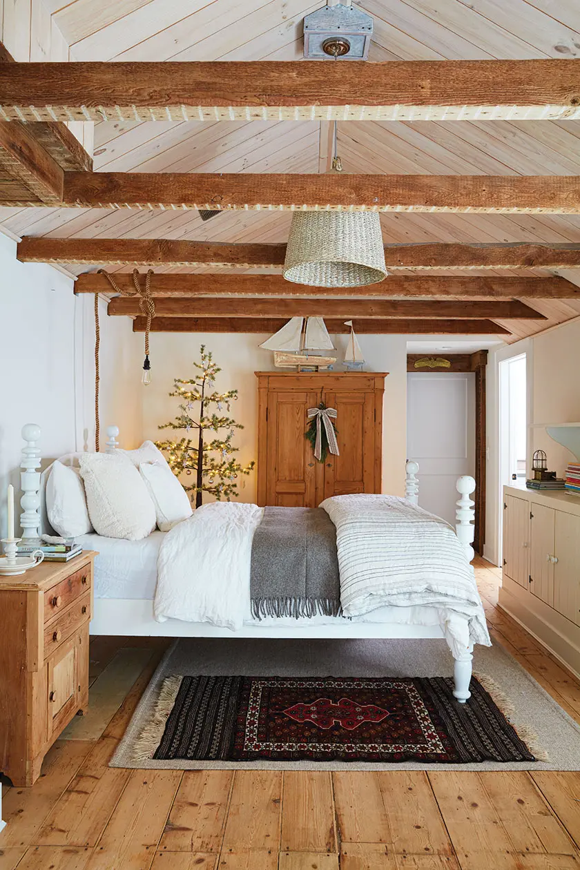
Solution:
{"label": "floor plank at lower left between nightstand and grey rug's near corner", "polygon": [[116,748],[111,737],[93,747],[44,821],[34,840],[37,845],[97,846],[130,778],[129,770],[109,766]]}

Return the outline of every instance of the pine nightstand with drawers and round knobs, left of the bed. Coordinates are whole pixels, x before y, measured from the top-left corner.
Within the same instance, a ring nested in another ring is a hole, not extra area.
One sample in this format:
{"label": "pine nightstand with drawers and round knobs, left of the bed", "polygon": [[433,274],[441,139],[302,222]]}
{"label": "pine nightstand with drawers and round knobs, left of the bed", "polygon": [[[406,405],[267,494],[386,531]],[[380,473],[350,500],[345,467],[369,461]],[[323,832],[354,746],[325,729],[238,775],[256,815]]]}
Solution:
{"label": "pine nightstand with drawers and round knobs, left of the bed", "polygon": [[89,703],[93,560],[0,577],[0,772],[31,786],[44,755]]}

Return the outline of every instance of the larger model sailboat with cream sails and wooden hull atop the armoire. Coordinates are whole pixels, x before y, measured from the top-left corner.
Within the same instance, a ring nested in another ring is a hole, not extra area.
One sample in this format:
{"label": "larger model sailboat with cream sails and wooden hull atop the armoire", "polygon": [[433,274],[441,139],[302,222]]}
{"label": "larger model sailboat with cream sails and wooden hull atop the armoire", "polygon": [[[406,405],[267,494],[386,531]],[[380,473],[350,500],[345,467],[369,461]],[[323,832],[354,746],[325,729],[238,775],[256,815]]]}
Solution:
{"label": "larger model sailboat with cream sails and wooden hull atop the armoire", "polygon": [[291,318],[260,347],[274,351],[274,365],[278,368],[297,365],[298,371],[303,366],[327,369],[337,362],[336,357],[322,357],[310,352],[334,350],[323,318],[306,318],[305,328],[304,318]]}

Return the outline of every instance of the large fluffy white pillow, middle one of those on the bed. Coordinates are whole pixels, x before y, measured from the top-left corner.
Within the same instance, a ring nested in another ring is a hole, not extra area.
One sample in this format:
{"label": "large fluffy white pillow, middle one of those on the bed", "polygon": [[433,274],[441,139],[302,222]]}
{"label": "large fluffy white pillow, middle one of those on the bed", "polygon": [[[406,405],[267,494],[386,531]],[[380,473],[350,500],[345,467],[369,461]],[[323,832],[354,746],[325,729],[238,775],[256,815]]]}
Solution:
{"label": "large fluffy white pillow, middle one of those on the bed", "polygon": [[130,541],[146,538],[155,528],[155,505],[137,468],[120,451],[83,453],[79,461],[95,532]]}

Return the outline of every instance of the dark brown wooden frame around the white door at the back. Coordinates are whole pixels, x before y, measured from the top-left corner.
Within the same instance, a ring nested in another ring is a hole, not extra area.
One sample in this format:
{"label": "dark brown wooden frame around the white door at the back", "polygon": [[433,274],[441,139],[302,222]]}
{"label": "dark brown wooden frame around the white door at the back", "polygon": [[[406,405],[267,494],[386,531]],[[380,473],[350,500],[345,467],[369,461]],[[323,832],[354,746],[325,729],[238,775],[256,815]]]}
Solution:
{"label": "dark brown wooden frame around the white door at the back", "polygon": [[[488,351],[475,351],[474,353],[447,353],[444,356],[437,354],[437,357],[430,356],[425,353],[408,353],[407,354],[407,371],[412,371],[414,374],[431,374],[434,371],[443,374],[453,374],[455,372],[467,374],[474,372],[476,376],[476,493],[475,500],[475,532],[473,539],[473,548],[480,555],[483,555],[483,545],[485,544],[485,464],[487,458],[487,435],[486,435],[486,367],[487,367]],[[424,367],[417,363],[429,358],[429,367]],[[437,365],[437,361],[441,360],[443,365]],[[449,365],[448,365],[449,364]]]}

